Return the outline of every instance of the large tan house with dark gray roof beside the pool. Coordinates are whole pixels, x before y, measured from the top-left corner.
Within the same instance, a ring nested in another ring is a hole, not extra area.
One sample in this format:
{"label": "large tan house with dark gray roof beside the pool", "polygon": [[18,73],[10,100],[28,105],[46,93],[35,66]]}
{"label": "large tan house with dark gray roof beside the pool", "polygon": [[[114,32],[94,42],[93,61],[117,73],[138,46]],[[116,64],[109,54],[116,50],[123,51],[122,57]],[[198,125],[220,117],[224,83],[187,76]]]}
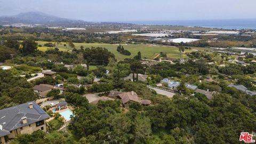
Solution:
{"label": "large tan house with dark gray roof beside the pool", "polygon": [[45,119],[50,116],[34,101],[0,110],[0,143],[5,138],[15,138],[18,134],[34,131],[46,132]]}

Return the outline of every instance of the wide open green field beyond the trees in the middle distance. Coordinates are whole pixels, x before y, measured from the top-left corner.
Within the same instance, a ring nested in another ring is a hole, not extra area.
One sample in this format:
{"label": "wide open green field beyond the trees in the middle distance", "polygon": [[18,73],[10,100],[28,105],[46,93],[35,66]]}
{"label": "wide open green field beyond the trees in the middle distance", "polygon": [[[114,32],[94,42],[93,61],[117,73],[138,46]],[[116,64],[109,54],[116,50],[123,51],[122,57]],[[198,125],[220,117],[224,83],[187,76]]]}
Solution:
{"label": "wide open green field beyond the trees in the middle distance", "polygon": [[[46,51],[47,49],[53,49],[53,47],[45,47],[44,44],[47,42],[38,41],[38,44],[41,44],[43,47],[38,47],[41,51]],[[72,49],[70,47],[65,47],[61,43],[58,45],[58,48],[60,51],[71,51]],[[180,58],[180,52],[179,49],[175,46],[151,46],[151,45],[145,45],[145,44],[129,44],[129,45],[123,45],[124,49],[131,52],[131,55],[123,55],[116,51],[116,47],[118,44],[104,44],[104,43],[74,43],[77,49],[80,49],[80,46],[84,47],[106,47],[110,52],[113,52],[116,56],[117,60],[124,60],[125,58],[133,58],[134,55],[136,55],[139,51],[141,52],[142,58],[147,59],[153,59],[158,53],[160,52],[166,52],[168,57],[171,58]],[[68,45],[68,44],[67,44]],[[190,52],[193,50],[186,50],[185,52]],[[187,58],[185,54],[182,55],[182,58]]]}

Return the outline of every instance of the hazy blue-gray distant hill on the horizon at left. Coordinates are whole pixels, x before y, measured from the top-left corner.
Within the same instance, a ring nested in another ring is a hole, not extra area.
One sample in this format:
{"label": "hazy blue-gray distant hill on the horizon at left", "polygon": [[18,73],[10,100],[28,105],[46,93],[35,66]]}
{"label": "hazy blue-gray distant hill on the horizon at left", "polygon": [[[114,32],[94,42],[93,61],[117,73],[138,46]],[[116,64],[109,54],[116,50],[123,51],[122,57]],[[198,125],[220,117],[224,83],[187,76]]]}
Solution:
{"label": "hazy blue-gray distant hill on the horizon at left", "polygon": [[84,21],[55,17],[54,15],[46,14],[43,12],[26,12],[26,13],[20,13],[17,15],[0,17],[0,25],[8,25],[12,23],[54,24],[54,23],[70,23],[70,22],[84,22]]}

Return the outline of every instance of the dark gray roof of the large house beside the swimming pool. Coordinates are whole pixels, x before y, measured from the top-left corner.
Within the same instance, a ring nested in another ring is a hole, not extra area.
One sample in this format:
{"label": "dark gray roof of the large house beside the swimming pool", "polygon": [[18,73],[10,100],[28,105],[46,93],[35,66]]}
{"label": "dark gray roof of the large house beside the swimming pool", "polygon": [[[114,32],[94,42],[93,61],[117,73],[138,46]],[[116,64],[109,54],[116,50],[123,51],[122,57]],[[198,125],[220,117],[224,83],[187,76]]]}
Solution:
{"label": "dark gray roof of the large house beside the swimming pool", "polygon": [[[29,103],[33,103],[33,108],[29,108]],[[43,112],[43,109],[34,101],[0,110],[0,135],[50,117]],[[25,124],[22,123],[23,117],[27,117],[27,123]]]}

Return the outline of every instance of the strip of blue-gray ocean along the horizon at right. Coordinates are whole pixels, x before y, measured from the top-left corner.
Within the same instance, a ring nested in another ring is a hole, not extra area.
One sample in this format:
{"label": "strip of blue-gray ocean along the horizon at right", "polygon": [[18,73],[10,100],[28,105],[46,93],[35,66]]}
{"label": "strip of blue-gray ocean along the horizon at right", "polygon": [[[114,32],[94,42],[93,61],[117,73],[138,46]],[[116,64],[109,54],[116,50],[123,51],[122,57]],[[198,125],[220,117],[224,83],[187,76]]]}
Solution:
{"label": "strip of blue-gray ocean along the horizon at right", "polygon": [[222,29],[256,29],[256,19],[127,21],[140,25],[196,26]]}

